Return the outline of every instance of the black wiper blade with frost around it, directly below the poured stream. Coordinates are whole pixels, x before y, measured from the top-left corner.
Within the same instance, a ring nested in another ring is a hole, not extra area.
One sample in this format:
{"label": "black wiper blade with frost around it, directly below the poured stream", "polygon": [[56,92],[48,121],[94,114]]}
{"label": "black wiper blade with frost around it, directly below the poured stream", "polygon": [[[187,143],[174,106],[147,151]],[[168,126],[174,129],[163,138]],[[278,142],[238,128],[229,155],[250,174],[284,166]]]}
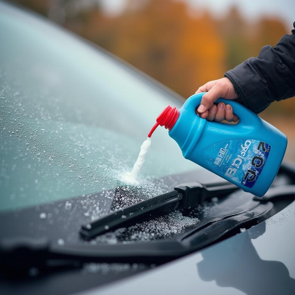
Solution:
{"label": "black wiper blade with frost around it, directly below the poured stream", "polygon": [[237,186],[227,182],[209,186],[199,182],[181,184],[171,192],[140,201],[84,224],[80,234],[86,238],[94,238],[105,232],[135,224],[137,220],[151,214],[167,214],[176,209],[193,209],[206,199],[222,197],[237,189]]}

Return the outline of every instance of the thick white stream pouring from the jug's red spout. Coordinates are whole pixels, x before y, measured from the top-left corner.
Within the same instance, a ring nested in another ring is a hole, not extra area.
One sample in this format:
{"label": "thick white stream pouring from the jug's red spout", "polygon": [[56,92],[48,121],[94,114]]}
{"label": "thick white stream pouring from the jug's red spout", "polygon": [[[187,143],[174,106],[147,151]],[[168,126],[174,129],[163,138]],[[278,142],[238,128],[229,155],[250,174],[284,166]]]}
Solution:
{"label": "thick white stream pouring from the jug's red spout", "polygon": [[140,169],[141,169],[143,163],[145,162],[145,155],[148,153],[148,150],[150,148],[150,144],[151,144],[151,138],[148,137],[142,143],[142,145],[140,147],[140,152],[139,152],[136,162],[133,165],[132,171],[126,172],[122,176],[123,181],[128,182],[128,183],[132,183],[132,184],[138,184],[137,176],[140,172]]}

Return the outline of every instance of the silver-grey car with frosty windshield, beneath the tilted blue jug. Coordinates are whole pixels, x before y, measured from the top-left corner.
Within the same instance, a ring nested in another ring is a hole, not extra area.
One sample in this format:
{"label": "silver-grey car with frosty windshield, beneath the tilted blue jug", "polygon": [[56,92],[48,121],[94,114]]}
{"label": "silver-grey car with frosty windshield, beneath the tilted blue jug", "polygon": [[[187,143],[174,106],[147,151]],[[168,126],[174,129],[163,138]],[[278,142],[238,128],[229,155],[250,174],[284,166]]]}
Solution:
{"label": "silver-grey car with frosty windshield, beneath the tilted blue jug", "polygon": [[[294,294],[295,168],[288,163],[264,199],[217,190],[218,198],[199,204],[195,215],[172,210],[131,232],[81,238],[81,224],[112,211],[118,195],[128,201],[116,203],[124,208],[182,183],[210,188],[227,182],[185,160],[161,129],[140,185],[126,185],[121,175],[158,113],[183,100],[31,12],[0,2],[0,27],[1,294]],[[249,203],[271,209],[253,219]],[[183,235],[192,236],[197,226],[206,230],[205,221],[227,221],[230,214],[222,214],[235,208],[246,214],[233,217],[248,219],[210,242],[207,232],[196,236],[186,252],[173,254],[173,241],[185,245]],[[48,249],[60,257],[43,261]],[[66,257],[77,249],[84,251],[79,263],[74,254]],[[145,255],[149,249],[155,253]],[[91,251],[100,253],[95,261]]]}

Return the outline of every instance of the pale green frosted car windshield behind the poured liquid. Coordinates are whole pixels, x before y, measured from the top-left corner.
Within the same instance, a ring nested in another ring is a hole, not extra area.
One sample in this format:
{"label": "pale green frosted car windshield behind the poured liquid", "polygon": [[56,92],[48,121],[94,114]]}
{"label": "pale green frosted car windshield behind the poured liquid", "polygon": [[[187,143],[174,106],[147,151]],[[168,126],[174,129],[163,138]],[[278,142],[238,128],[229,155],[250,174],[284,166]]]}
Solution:
{"label": "pale green frosted car windshield behind the poured liquid", "polygon": [[[0,209],[122,185],[158,114],[181,101],[54,24],[0,8]],[[163,193],[152,179],[196,167],[158,128],[140,186]]]}

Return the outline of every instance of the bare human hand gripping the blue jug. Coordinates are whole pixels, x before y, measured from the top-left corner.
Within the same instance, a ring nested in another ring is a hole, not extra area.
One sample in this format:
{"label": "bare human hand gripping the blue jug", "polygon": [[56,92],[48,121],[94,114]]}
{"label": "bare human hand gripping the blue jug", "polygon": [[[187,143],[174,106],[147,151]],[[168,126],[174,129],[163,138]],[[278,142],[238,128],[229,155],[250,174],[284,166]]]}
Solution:
{"label": "bare human hand gripping the blue jug", "polygon": [[220,102],[215,105],[214,102],[219,98],[237,99],[234,86],[230,79],[224,77],[218,80],[209,81],[199,87],[196,93],[207,92],[203,95],[201,104],[198,107],[198,115],[208,121],[221,122],[224,119],[228,122],[236,122],[239,118],[233,114],[232,106]]}

